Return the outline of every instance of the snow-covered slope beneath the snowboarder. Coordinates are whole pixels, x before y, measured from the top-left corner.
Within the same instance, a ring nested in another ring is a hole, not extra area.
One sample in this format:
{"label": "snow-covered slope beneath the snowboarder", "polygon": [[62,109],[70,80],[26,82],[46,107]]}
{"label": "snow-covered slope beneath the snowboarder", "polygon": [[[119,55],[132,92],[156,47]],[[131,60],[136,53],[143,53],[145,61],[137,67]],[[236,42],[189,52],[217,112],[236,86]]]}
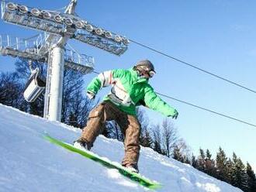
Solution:
{"label": "snow-covered slope beneath the snowboarder", "polygon": [[[0,191],[149,191],[90,159],[43,139],[43,133],[73,142],[81,131],[60,122],[0,105]],[[123,143],[99,136],[92,152],[114,162]],[[159,191],[241,191],[188,164],[141,148],[140,173],[164,186]]]}

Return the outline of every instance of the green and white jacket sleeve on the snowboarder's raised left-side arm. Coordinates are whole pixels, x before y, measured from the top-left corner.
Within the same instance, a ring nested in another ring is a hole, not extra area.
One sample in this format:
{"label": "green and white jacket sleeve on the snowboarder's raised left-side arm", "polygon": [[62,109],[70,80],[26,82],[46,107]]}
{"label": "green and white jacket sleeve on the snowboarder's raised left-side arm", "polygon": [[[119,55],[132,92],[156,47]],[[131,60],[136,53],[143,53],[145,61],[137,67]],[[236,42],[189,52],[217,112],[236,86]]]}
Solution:
{"label": "green and white jacket sleeve on the snowboarder's raised left-side arm", "polygon": [[87,91],[97,94],[102,87],[107,87],[110,84],[113,84],[116,77],[120,77],[124,74],[123,71],[124,70],[107,70],[102,72],[88,84]]}

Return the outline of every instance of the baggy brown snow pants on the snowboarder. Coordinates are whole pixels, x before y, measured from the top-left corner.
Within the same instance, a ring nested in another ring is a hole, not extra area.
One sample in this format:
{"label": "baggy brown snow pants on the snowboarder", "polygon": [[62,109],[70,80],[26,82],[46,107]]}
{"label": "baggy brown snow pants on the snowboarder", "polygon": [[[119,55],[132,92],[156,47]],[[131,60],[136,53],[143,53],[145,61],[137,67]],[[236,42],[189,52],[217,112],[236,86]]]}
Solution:
{"label": "baggy brown snow pants on the snowboarder", "polygon": [[81,140],[88,144],[90,149],[96,137],[105,129],[105,122],[115,120],[124,135],[125,156],[122,165],[136,164],[140,155],[140,122],[134,115],[120,111],[110,101],[103,101],[89,114],[88,122],[81,134]]}

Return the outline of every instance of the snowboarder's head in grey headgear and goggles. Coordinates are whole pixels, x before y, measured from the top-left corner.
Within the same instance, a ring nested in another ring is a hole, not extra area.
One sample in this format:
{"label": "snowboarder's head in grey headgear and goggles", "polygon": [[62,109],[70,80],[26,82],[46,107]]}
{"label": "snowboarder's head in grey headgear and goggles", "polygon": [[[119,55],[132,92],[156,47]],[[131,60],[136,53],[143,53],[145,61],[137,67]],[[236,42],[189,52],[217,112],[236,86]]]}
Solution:
{"label": "snowboarder's head in grey headgear and goggles", "polygon": [[150,60],[140,60],[134,66],[136,70],[138,70],[140,75],[145,73],[149,74],[150,77],[153,77],[156,72],[154,71],[154,65],[150,62]]}

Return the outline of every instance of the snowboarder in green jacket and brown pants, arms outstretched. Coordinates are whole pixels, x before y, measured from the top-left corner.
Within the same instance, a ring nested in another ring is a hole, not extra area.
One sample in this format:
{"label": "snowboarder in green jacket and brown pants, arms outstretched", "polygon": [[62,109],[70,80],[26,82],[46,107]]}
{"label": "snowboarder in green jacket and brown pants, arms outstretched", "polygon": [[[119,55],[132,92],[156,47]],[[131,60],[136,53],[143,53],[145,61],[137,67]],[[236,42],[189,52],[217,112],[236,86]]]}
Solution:
{"label": "snowboarder in green jacket and brown pants, arms outstretched", "polygon": [[136,107],[144,105],[168,117],[178,117],[178,111],[161,100],[148,84],[154,74],[154,65],[150,60],[140,60],[128,70],[109,70],[95,77],[88,84],[88,98],[94,99],[102,87],[112,85],[112,88],[102,103],[90,112],[87,125],[74,146],[90,150],[96,137],[103,131],[105,122],[115,120],[125,138],[122,165],[138,173],[140,122]]}

